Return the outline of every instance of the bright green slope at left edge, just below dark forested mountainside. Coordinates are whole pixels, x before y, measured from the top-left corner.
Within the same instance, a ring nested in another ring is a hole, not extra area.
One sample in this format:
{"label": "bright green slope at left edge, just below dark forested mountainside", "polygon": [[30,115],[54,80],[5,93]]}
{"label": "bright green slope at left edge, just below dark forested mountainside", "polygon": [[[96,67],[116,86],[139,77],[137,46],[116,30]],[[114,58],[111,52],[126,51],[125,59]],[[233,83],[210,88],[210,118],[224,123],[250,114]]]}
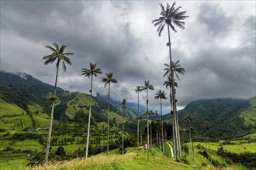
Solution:
{"label": "bright green slope at left edge, just below dark forested mountainside", "polygon": [[0,98],[0,116],[26,114],[26,111],[18,107],[16,104],[9,104]]}

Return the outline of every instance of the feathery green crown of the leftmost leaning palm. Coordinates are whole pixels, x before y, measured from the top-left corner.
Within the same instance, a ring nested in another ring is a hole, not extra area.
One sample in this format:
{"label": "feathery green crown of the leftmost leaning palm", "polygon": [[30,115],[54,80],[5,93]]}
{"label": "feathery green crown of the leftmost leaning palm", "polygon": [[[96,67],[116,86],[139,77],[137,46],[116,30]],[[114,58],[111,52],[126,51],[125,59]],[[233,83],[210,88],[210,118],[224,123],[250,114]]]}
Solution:
{"label": "feathery green crown of the leftmost leaning palm", "polygon": [[50,49],[53,53],[51,53],[48,56],[43,56],[43,60],[46,60],[44,62],[45,65],[48,63],[54,63],[54,61],[57,59],[56,66],[59,66],[61,60],[63,60],[63,69],[66,71],[66,65],[65,63],[71,64],[71,60],[68,58],[68,56],[74,55],[74,53],[64,53],[64,49],[66,48],[65,45],[62,45],[61,48],[57,45],[57,43],[53,43],[54,47],[52,46],[45,46],[47,49]]}

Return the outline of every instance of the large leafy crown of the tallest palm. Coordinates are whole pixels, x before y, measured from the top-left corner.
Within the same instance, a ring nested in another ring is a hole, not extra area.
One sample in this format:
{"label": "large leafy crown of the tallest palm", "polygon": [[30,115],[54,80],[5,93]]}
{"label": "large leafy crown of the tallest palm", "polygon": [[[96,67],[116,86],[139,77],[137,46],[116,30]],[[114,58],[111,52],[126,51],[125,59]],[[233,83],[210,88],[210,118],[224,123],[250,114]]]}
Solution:
{"label": "large leafy crown of the tallest palm", "polygon": [[178,26],[180,29],[185,29],[185,22],[182,22],[181,20],[186,19],[189,16],[185,16],[186,11],[178,12],[180,8],[182,8],[181,6],[175,8],[176,2],[174,2],[171,7],[169,4],[166,4],[166,8],[164,8],[164,5],[162,4],[159,5],[161,6],[161,16],[152,21],[154,26],[158,26],[158,36],[161,36],[161,32],[164,30],[165,24],[171,26],[171,29],[175,32],[177,32],[175,26]]}

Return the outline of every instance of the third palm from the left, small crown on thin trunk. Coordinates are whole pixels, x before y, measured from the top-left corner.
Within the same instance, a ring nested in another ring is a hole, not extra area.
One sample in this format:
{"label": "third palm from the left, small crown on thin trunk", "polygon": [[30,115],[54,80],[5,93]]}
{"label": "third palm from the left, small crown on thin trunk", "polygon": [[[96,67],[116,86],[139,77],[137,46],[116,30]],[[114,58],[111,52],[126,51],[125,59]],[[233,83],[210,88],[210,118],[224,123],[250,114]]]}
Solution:
{"label": "third palm from the left, small crown on thin trunk", "polygon": [[[117,80],[112,77],[113,73],[106,73],[106,78],[102,78],[102,82],[106,85],[109,84],[109,93],[110,93],[110,83],[117,83]],[[108,137],[107,137],[107,155],[109,156],[109,93],[108,93]]]}

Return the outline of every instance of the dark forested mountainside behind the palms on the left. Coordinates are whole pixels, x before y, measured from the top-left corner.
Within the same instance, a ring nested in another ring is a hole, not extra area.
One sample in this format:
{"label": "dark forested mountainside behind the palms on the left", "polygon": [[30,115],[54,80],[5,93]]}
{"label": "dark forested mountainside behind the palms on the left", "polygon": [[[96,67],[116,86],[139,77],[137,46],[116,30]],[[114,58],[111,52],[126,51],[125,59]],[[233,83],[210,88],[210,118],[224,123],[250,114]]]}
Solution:
{"label": "dark forested mountainside behind the palms on the left", "polygon": [[[44,114],[50,113],[50,97],[53,96],[54,87],[37,80],[29,74],[0,71],[0,89],[2,100],[9,104],[16,104],[26,110],[28,114],[33,114],[34,111],[40,111]],[[88,101],[88,94],[69,92],[57,87],[57,104],[54,110],[54,118],[63,121],[85,121],[88,119]],[[93,97],[92,103],[92,110],[94,110],[92,111],[93,122],[106,121],[106,114],[104,114],[107,109],[106,101]],[[37,110],[32,109],[35,106]],[[119,104],[110,104],[110,111],[113,112],[113,120],[119,121],[123,111]],[[136,116],[136,112],[130,110],[128,106],[126,119],[133,121],[136,120]]]}

